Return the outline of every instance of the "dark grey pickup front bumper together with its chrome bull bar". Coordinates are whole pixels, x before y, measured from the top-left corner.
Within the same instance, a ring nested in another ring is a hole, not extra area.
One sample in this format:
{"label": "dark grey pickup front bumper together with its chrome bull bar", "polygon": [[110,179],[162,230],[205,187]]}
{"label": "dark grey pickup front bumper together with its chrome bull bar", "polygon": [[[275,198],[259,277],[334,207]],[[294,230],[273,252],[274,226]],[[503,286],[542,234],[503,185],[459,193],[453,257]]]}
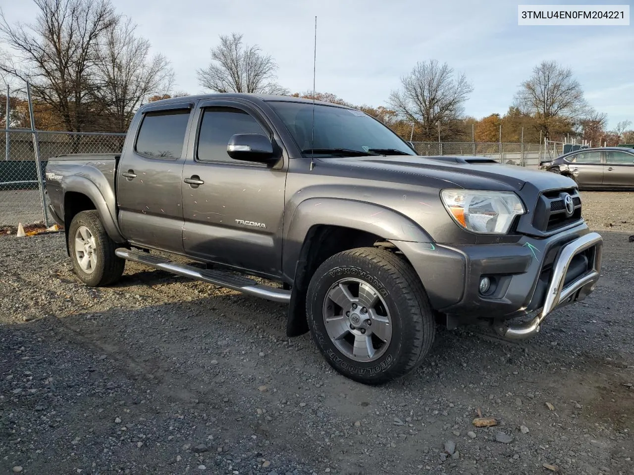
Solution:
{"label": "dark grey pickup front bumper together with its chrome bull bar", "polygon": [[[535,312],[541,323],[554,308],[581,300],[592,291],[603,248],[601,236],[585,224],[544,239],[523,236],[517,243],[394,244],[417,271],[432,307],[461,323],[500,322]],[[479,291],[483,276],[496,281],[487,295]],[[526,333],[535,331],[531,327]]]}

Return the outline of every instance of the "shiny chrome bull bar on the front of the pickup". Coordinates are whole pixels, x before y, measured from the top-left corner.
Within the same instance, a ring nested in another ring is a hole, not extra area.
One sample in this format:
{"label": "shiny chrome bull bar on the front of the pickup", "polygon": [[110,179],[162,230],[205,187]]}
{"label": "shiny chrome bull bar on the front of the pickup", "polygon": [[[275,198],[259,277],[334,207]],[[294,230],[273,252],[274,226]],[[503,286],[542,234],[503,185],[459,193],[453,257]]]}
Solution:
{"label": "shiny chrome bull bar on the front of the pickup", "polygon": [[[588,263],[588,270],[573,282],[569,282],[564,287],[564,281],[570,263],[579,253],[594,247],[594,262]],[[559,254],[559,258],[553,266],[552,276],[548,284],[548,291],[544,300],[544,305],[540,313],[523,324],[507,325],[496,327],[496,331],[510,339],[523,339],[533,336],[540,331],[541,322],[557,307],[563,307],[573,301],[583,300],[586,295],[592,292],[597,284],[601,270],[601,257],[603,253],[603,238],[597,232],[590,232],[581,238],[577,238],[566,244]]]}

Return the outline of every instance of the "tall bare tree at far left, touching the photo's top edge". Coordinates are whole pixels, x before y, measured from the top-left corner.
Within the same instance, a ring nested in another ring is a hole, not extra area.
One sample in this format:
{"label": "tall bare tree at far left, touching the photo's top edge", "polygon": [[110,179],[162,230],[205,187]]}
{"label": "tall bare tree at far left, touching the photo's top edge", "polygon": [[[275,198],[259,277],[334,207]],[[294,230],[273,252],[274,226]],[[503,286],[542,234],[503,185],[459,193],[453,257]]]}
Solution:
{"label": "tall bare tree at far left, touching the photo's top edge", "polygon": [[32,24],[10,25],[0,14],[0,39],[15,51],[0,70],[29,80],[37,99],[60,115],[67,130],[84,130],[94,97],[99,38],[119,22],[109,0],[34,0]]}

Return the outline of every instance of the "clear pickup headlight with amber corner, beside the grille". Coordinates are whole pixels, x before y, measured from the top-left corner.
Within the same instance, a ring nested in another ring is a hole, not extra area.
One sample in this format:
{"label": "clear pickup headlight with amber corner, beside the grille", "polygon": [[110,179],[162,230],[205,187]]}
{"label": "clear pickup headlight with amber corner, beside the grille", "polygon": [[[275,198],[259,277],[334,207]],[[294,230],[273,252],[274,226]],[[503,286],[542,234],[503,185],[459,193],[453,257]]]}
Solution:
{"label": "clear pickup headlight with amber corner, beside the grille", "polygon": [[441,198],[456,223],[481,234],[506,234],[515,217],[526,213],[512,191],[445,189]]}

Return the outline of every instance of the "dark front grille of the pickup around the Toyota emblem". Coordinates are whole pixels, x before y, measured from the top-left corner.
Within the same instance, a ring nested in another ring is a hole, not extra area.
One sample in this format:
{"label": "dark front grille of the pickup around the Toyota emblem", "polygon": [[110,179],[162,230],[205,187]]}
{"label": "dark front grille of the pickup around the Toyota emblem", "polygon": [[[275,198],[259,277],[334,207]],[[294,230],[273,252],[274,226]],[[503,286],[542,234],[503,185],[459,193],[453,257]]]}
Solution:
{"label": "dark front grille of the pickup around the Toyota emblem", "polygon": [[[566,196],[573,199],[573,212],[566,210]],[[575,188],[547,191],[540,194],[533,226],[542,232],[556,231],[581,220],[581,198]]]}

